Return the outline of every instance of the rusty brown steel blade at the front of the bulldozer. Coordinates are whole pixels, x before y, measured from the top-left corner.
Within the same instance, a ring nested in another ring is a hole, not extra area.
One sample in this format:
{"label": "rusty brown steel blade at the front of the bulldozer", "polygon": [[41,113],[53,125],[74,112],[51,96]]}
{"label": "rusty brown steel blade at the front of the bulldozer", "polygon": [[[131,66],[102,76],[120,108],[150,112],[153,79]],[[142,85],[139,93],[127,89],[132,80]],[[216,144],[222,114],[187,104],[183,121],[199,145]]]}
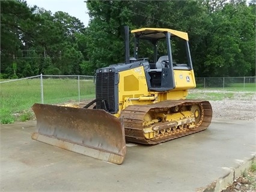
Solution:
{"label": "rusty brown steel blade at the front of the bulldozer", "polygon": [[115,164],[123,163],[123,118],[105,110],[37,104],[32,106],[37,132],[32,139]]}

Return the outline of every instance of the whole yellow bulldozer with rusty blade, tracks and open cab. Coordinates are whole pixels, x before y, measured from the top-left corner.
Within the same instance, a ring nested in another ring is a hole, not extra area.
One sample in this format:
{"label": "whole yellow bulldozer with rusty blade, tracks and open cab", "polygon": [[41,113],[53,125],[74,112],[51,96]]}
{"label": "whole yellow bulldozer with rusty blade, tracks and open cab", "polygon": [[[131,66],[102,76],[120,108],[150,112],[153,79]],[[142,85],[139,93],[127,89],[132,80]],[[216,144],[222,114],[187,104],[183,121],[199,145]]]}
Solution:
{"label": "whole yellow bulldozer with rusty blade, tracks and open cab", "polygon": [[[187,33],[165,28],[141,28],[131,33],[133,58],[126,27],[125,62],[96,70],[95,100],[84,107],[32,106],[37,118],[32,139],[121,164],[127,142],[156,145],[209,127],[209,101],[186,99],[188,90],[196,86]],[[139,44],[144,41],[153,47],[151,58],[138,56]],[[185,56],[174,59],[177,53],[173,47]]]}

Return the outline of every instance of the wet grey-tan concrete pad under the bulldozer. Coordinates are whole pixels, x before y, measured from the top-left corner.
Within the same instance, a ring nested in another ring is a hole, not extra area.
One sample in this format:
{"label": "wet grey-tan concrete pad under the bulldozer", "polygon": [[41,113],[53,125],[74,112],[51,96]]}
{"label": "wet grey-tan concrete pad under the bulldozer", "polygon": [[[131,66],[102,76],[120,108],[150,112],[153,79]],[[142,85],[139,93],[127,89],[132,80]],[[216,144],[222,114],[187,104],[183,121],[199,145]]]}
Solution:
{"label": "wet grey-tan concrete pad under the bulldozer", "polygon": [[219,191],[219,178],[239,175],[256,154],[251,121],[213,119],[170,142],[128,143],[121,165],[32,140],[35,125],[1,125],[0,191]]}

